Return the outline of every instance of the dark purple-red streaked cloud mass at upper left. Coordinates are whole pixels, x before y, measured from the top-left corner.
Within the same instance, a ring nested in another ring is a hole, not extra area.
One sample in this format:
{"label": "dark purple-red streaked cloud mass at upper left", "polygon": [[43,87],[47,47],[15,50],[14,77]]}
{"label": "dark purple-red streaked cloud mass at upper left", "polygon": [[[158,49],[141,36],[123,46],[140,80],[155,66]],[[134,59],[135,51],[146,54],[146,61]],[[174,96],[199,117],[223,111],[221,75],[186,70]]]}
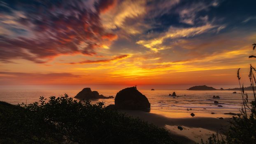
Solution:
{"label": "dark purple-red streaked cloud mass at upper left", "polygon": [[[23,58],[35,63],[45,63],[62,54],[95,55],[95,49],[117,37],[105,32],[99,12],[86,8],[86,2],[3,1],[2,7],[5,9],[2,8],[0,11],[0,21],[5,22],[2,27],[9,33],[0,36],[0,60],[9,62],[12,59]],[[114,1],[100,1],[93,7],[105,11],[113,3]]]}

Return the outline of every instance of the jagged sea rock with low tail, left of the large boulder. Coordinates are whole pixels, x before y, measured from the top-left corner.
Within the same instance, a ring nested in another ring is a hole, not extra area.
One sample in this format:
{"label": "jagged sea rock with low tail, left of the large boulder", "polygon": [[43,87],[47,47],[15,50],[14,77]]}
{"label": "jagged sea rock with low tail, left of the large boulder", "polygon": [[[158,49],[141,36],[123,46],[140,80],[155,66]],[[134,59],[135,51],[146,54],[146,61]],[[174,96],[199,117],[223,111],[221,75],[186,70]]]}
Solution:
{"label": "jagged sea rock with low tail, left of the large boulder", "polygon": [[74,97],[77,99],[106,99],[106,98],[114,98],[113,96],[105,97],[104,95],[99,95],[97,91],[91,91],[91,88],[84,88],[82,91],[77,93]]}

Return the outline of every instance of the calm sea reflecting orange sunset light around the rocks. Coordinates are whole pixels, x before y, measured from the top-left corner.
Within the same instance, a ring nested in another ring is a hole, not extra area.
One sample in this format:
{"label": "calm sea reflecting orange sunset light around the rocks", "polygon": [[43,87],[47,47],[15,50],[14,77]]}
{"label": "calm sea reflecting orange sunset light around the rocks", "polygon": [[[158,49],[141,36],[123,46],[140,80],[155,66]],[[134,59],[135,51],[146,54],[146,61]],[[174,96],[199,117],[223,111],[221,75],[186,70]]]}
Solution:
{"label": "calm sea reflecting orange sunset light around the rocks", "polygon": [[[116,96],[116,93],[120,89],[116,90],[95,90],[100,94],[105,96]],[[172,118],[180,117],[191,117],[190,113],[193,112],[196,116],[203,117],[231,117],[224,113],[237,113],[242,107],[241,94],[237,91],[237,94],[232,94],[233,91],[187,91],[187,90],[138,90],[146,95],[151,103],[151,113],[162,114],[164,116]],[[70,97],[74,97],[81,89],[58,89],[58,90],[0,90],[0,100],[9,102],[11,104],[18,103],[33,103],[39,100],[40,96],[49,98],[50,96],[60,96],[67,93]],[[175,93],[179,97],[171,97],[169,93]],[[252,100],[251,91],[249,93],[249,100]],[[213,99],[213,95],[219,95],[220,99]],[[214,104],[214,100],[219,102],[219,105],[223,107],[218,107]],[[105,105],[114,104],[113,99],[99,99],[92,100],[91,102],[105,102]],[[189,109],[189,110],[188,110]],[[211,114],[212,112],[216,114]]]}

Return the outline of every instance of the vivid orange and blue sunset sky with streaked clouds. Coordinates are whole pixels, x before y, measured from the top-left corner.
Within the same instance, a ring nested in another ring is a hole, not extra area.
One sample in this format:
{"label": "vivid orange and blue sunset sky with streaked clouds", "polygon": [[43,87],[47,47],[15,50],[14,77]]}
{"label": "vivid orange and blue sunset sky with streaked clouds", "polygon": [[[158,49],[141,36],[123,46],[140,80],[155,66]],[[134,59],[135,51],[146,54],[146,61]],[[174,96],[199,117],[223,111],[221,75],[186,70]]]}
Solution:
{"label": "vivid orange and blue sunset sky with streaked clouds", "polygon": [[255,0],[1,0],[0,85],[236,85]]}

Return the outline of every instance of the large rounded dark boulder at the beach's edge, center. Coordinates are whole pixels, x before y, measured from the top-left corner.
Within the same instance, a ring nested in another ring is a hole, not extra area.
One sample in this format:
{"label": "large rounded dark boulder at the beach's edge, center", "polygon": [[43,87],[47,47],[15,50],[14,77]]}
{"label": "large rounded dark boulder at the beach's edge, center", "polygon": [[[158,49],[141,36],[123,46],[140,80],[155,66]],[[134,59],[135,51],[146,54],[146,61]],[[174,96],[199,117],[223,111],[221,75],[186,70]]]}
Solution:
{"label": "large rounded dark boulder at the beach's edge, center", "polygon": [[137,88],[125,88],[116,93],[116,109],[131,109],[149,111],[150,103],[145,95],[142,95]]}

